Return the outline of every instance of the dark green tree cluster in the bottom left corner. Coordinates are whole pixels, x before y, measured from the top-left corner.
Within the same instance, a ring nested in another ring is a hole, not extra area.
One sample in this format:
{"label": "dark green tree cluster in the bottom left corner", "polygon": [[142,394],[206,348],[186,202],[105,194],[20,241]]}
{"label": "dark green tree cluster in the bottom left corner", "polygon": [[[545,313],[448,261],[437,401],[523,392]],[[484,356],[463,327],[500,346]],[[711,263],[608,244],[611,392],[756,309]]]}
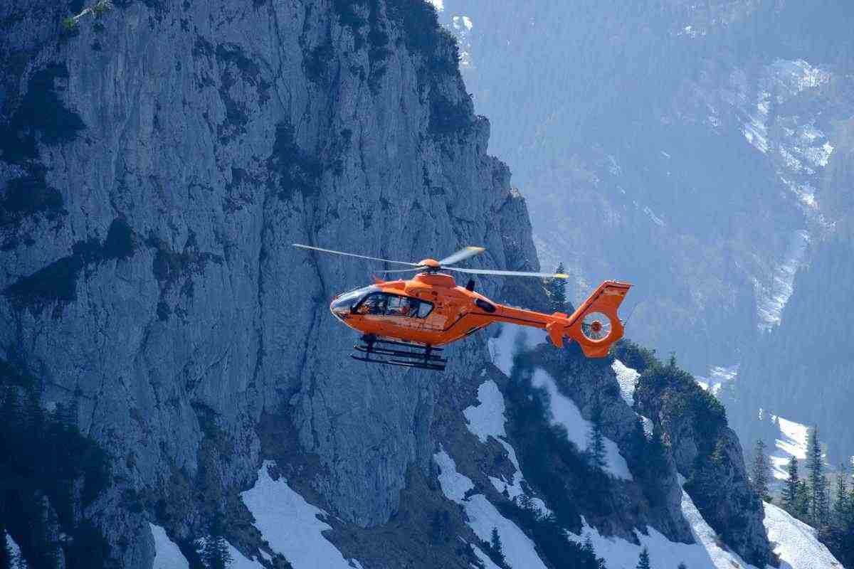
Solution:
{"label": "dark green tree cluster in the bottom left corner", "polygon": [[30,566],[103,566],[86,508],[110,484],[110,457],[79,432],[75,404],[46,411],[41,398],[38,378],[0,359],[0,520]]}

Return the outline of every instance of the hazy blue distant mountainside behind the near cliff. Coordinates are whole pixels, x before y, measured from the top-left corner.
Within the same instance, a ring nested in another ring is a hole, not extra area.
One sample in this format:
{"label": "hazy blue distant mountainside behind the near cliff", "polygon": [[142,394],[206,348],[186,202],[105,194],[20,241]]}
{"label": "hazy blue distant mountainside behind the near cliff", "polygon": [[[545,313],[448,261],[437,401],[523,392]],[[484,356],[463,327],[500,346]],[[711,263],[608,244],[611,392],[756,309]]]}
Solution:
{"label": "hazy blue distant mountainside behind the near cliff", "polygon": [[[635,282],[629,336],[695,374],[741,365],[743,438],[770,409],[833,432],[834,462],[854,454],[826,406],[851,405],[848,366],[788,347],[848,337],[810,266],[845,274],[851,258],[822,257],[851,225],[851,3],[443,5],[477,112],[501,117],[490,148],[525,189],[542,263],[567,264],[576,299],[603,276]],[[793,294],[804,308],[787,311]]]}

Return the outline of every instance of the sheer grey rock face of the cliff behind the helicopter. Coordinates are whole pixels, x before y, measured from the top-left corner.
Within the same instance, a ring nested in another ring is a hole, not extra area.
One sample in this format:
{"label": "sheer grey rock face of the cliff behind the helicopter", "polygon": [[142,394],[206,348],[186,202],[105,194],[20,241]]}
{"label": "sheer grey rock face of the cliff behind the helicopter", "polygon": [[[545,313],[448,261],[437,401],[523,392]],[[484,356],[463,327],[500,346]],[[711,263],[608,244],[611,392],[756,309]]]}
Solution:
{"label": "sheer grey rock face of the cliff behind the helicopter", "polygon": [[[196,478],[211,429],[231,450],[219,482],[251,485],[255,425],[283,406],[344,520],[387,520],[407,467],[428,468],[442,379],[351,361],[326,304],[371,267],[292,243],[403,260],[477,243],[485,266],[536,266],[452,45],[392,4],[120,3],[61,40],[52,4],[0,8],[3,67],[23,62],[0,97],[0,357],[46,403],[79,398],[151,503]],[[481,350],[450,350],[450,374]],[[155,508],[115,497],[93,511],[131,543],[121,564],[146,566]]]}

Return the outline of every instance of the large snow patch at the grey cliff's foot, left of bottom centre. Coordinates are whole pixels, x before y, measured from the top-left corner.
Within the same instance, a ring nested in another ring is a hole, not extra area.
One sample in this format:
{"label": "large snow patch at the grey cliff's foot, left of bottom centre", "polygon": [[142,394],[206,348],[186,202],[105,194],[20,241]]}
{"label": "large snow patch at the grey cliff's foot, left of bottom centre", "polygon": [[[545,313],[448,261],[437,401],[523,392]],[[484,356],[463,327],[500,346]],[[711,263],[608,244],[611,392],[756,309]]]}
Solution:
{"label": "large snow patch at the grey cliff's foot, left of bottom centre", "polygon": [[318,516],[329,514],[306,502],[284,478],[273,480],[267,471],[271,466],[272,462],[264,462],[258,482],[240,495],[271,549],[283,554],[294,569],[352,569],[323,535],[332,528]]}

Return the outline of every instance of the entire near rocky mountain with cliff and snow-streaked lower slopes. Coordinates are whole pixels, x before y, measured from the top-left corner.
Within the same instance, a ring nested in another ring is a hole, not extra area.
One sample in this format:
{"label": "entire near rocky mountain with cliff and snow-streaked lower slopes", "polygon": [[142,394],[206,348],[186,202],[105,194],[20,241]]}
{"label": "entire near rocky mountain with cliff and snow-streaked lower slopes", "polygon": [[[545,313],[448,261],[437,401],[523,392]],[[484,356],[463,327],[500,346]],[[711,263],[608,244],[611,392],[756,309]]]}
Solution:
{"label": "entire near rocky mountain with cliff and snow-streaked lower slopes", "polygon": [[[428,4],[128,1],[64,30],[81,8],[0,7],[0,410],[16,450],[0,466],[17,477],[0,534],[33,566],[200,567],[197,540],[221,538],[240,567],[592,567],[564,531],[705,552],[703,516],[740,558],[771,559],[726,428],[676,433],[646,402],[647,435],[611,360],[523,342],[502,368],[486,335],[450,349],[445,374],[347,357],[326,305],[369,271],[294,242],[404,259],[477,243],[486,266],[538,266]],[[545,303],[538,283],[477,286]],[[616,473],[583,452],[592,383]],[[728,511],[673,453],[717,440]],[[71,444],[105,469],[56,460]]]}

